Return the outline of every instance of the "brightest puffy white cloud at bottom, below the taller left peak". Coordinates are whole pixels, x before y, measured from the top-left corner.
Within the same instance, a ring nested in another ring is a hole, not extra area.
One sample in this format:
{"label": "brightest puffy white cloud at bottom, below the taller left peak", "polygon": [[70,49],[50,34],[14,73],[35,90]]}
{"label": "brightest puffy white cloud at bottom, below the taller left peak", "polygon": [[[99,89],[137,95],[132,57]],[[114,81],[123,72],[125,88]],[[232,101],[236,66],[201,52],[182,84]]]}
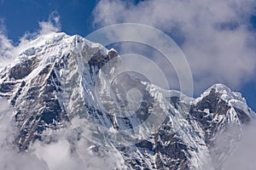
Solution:
{"label": "brightest puffy white cloud at bottom, below the taller left peak", "polygon": [[68,127],[58,132],[45,131],[43,141],[36,141],[29,150],[39,160],[45,161],[50,170],[108,170],[117,166],[119,162],[113,151],[92,152],[93,147],[95,145],[90,145],[87,139],[78,140],[77,131]]}

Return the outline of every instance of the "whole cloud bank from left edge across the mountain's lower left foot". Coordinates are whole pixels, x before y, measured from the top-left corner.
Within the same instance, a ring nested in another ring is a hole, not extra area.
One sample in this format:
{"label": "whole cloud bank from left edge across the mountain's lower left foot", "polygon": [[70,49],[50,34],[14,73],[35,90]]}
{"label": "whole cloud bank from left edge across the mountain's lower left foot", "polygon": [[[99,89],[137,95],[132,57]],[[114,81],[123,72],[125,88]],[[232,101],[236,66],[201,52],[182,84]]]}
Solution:
{"label": "whole cloud bank from left edge across the mountain's lower left foot", "polygon": [[9,103],[0,99],[0,169],[108,170],[121,162],[112,149],[92,151],[96,145],[89,144],[87,139],[78,139],[78,133],[72,126],[60,131],[49,129],[41,141],[29,145],[26,152],[19,152],[15,144],[18,129],[12,115]]}

